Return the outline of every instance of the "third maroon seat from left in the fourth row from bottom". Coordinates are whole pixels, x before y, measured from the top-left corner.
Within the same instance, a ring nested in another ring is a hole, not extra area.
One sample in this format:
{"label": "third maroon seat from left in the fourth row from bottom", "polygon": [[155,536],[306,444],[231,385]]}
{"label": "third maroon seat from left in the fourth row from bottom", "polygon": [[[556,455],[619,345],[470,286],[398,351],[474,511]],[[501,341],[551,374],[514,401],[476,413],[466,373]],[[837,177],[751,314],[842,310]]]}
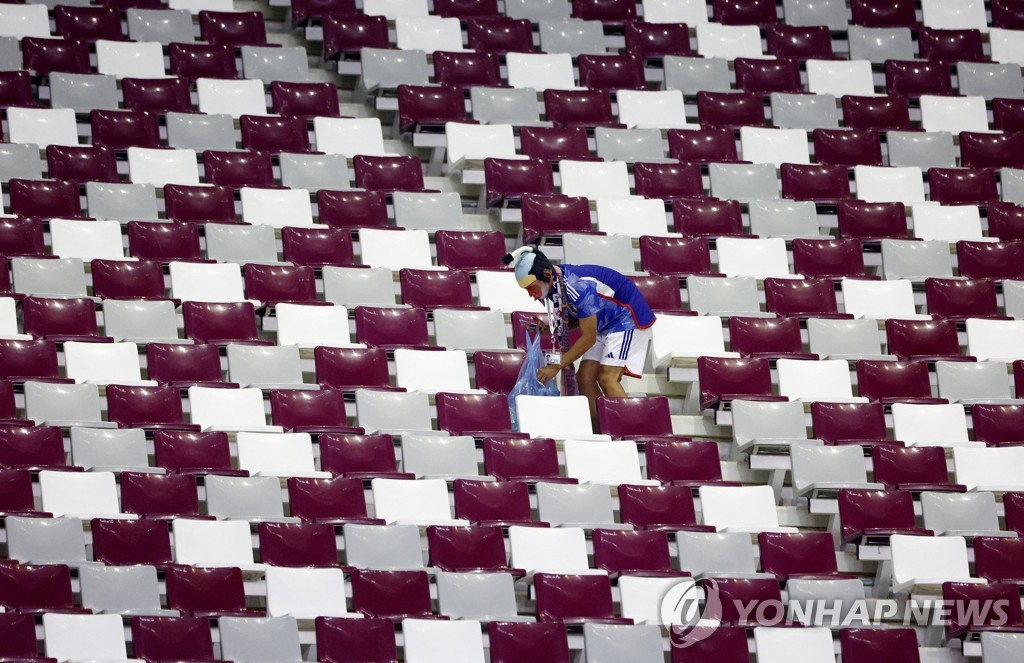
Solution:
{"label": "third maroon seat from left in the fourth row from bottom", "polygon": [[[358,479],[290,476],[288,480],[288,500],[291,514],[294,517],[302,519],[303,522],[384,525],[384,521],[367,517],[362,482]],[[287,532],[284,534],[287,537]],[[333,538],[331,549],[334,556],[332,564],[337,564],[337,551],[334,548]]]}

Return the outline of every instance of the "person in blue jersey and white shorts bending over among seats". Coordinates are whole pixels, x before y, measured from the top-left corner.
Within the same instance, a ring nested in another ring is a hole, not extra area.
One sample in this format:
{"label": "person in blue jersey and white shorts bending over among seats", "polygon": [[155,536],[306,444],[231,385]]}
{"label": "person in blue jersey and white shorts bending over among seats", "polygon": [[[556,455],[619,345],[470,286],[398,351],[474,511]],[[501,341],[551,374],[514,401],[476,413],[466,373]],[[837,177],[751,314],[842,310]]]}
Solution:
{"label": "person in blue jersey and white shorts bending over among seats", "polygon": [[[590,415],[597,424],[597,398],[626,398],[623,374],[640,377],[643,373],[650,327],[654,314],[628,278],[598,264],[555,265],[532,246],[524,246],[505,256],[514,264],[520,288],[548,306],[555,320],[579,326],[580,338],[567,345],[567,330],[562,330],[563,347],[558,363],[548,364],[537,372],[541,382],[551,380],[577,360],[580,392],[590,401]],[[558,347],[559,339],[555,339]]]}

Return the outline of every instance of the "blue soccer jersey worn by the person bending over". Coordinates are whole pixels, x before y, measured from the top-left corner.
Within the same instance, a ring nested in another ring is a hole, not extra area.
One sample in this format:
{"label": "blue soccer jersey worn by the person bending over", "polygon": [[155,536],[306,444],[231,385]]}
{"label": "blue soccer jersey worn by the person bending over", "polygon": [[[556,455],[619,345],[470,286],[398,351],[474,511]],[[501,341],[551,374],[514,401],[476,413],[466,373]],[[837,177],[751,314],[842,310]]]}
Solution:
{"label": "blue soccer jersey worn by the person bending over", "polygon": [[597,333],[646,329],[654,313],[636,285],[622,274],[596,264],[559,265],[565,276],[569,315],[597,316]]}

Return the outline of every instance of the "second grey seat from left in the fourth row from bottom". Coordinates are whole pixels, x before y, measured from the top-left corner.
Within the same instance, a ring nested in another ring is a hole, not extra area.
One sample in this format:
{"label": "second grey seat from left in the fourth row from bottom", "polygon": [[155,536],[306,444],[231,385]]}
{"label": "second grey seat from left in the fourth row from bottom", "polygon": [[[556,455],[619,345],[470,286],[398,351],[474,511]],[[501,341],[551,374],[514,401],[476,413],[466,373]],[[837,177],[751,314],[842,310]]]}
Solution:
{"label": "second grey seat from left in the fourth row from bottom", "polygon": [[[561,483],[543,482],[538,484],[537,490],[538,514],[542,521],[551,523],[555,528],[580,527],[586,529],[607,528],[607,529],[629,529],[618,525],[614,521],[611,508],[611,495],[605,486],[575,486]],[[542,530],[551,532],[553,530]],[[545,535],[540,535],[545,536]],[[548,543],[551,543],[550,541]],[[535,550],[535,552],[537,552]],[[586,555],[583,564],[579,566],[586,569]],[[517,562],[515,546],[513,545],[512,563],[515,566],[522,566]],[[551,566],[543,566],[538,560],[538,565],[525,568],[550,569]],[[573,562],[573,564],[575,564]]]}

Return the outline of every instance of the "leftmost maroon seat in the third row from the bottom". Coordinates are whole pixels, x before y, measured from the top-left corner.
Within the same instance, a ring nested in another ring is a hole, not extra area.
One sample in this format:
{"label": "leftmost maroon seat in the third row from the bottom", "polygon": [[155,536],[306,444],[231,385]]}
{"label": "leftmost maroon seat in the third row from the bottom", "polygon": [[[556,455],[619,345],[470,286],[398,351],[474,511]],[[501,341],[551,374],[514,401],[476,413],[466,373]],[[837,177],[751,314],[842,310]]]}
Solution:
{"label": "leftmost maroon seat in the third row from the bottom", "polygon": [[165,522],[139,519],[93,519],[92,545],[96,562],[113,566],[171,564],[171,536]]}

